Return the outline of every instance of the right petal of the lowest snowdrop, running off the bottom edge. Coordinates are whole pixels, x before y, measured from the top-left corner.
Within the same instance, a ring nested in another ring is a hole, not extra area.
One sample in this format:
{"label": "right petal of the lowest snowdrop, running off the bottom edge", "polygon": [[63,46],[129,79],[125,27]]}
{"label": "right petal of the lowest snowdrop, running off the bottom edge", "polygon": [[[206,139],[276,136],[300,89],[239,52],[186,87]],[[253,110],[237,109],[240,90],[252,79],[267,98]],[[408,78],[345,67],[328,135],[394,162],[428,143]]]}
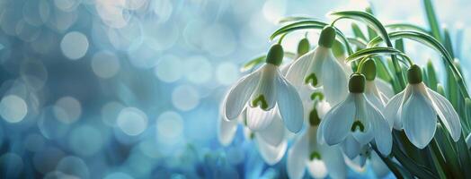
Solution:
{"label": "right petal of the lowest snowdrop, running off the bottom edge", "polygon": [[321,159],[327,167],[327,172],[331,178],[346,178],[347,165],[343,158],[342,150],[339,146],[319,145]]}

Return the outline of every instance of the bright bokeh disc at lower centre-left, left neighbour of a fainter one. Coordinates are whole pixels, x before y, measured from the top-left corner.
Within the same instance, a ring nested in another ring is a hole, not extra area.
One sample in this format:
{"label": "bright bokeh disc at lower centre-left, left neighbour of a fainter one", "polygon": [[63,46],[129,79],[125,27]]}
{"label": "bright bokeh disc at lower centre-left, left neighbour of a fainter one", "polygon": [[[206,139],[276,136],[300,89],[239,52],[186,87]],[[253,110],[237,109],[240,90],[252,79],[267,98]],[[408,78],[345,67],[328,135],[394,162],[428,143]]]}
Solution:
{"label": "bright bokeh disc at lower centre-left, left neighbour of a fainter one", "polygon": [[136,107],[126,107],[120,111],[116,123],[122,132],[136,136],[147,129],[147,115]]}

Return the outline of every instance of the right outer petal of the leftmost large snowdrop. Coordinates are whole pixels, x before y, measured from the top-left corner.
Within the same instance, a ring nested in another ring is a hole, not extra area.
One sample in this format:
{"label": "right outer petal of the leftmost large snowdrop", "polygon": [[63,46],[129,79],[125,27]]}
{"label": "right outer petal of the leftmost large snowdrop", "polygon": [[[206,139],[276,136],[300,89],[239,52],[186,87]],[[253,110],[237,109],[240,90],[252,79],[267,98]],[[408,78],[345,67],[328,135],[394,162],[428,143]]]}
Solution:
{"label": "right outer petal of the leftmost large snowdrop", "polygon": [[301,98],[299,98],[296,89],[279,76],[277,80],[278,88],[278,108],[281,119],[290,132],[299,132],[303,127],[304,108]]}

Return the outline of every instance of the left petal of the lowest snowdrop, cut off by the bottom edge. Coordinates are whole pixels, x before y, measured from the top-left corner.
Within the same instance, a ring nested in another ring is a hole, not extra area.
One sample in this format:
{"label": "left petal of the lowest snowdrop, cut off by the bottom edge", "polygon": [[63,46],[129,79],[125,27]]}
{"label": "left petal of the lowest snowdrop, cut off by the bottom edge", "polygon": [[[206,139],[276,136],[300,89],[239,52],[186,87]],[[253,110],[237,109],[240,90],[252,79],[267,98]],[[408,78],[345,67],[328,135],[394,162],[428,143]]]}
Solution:
{"label": "left petal of the lowest snowdrop, cut off by the bottom edge", "polygon": [[288,157],[286,160],[286,170],[289,178],[302,178],[308,160],[308,136],[307,132],[296,136],[293,145],[288,150]]}

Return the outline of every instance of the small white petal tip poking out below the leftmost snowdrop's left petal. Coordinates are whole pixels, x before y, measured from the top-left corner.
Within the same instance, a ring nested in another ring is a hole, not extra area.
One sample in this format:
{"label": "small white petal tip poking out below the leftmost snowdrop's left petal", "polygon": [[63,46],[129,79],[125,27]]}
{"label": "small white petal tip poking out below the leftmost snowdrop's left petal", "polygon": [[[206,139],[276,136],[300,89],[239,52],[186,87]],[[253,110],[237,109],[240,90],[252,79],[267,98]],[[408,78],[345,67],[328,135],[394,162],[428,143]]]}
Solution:
{"label": "small white petal tip poking out below the leftmost snowdrop's left petal", "polygon": [[237,132],[237,120],[227,121],[224,118],[218,120],[218,140],[223,146],[229,145]]}

